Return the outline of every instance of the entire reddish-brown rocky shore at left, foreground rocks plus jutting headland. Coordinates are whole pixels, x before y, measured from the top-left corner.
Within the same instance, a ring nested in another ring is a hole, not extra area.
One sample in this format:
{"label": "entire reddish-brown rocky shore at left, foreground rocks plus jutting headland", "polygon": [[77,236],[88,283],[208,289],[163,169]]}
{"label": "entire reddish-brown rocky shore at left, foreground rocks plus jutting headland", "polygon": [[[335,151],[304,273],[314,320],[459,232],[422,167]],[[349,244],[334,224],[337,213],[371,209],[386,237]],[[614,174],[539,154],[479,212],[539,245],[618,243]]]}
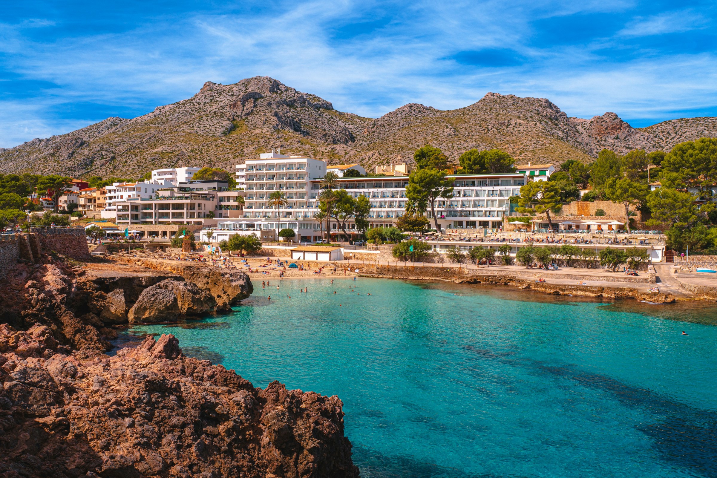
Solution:
{"label": "entire reddish-brown rocky shore at left, foreground rocks plus jutting headland", "polygon": [[0,477],[358,477],[343,403],[252,384],[131,322],[229,310],[244,272],[44,254],[0,280]]}

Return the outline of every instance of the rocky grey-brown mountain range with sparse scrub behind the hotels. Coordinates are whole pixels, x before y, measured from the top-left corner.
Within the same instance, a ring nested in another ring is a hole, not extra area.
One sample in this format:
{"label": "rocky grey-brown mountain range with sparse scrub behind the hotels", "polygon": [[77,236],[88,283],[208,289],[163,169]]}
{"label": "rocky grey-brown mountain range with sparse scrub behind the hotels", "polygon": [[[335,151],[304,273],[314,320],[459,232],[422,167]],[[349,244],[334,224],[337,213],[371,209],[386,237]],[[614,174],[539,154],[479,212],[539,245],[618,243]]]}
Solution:
{"label": "rocky grey-brown mountain range with sparse scrub behind the hotels", "polygon": [[501,148],[528,161],[590,161],[599,150],[669,150],[717,135],[717,118],[632,128],[615,113],[569,118],[545,98],[488,93],[457,110],[411,103],[381,118],[334,110],[331,102],[270,77],[206,82],[188,100],[133,119],[108,118],[65,135],[0,150],[0,172],[141,176],[153,168],[229,168],[272,148],[366,168],[412,161],[426,143],[456,160],[470,148]]}

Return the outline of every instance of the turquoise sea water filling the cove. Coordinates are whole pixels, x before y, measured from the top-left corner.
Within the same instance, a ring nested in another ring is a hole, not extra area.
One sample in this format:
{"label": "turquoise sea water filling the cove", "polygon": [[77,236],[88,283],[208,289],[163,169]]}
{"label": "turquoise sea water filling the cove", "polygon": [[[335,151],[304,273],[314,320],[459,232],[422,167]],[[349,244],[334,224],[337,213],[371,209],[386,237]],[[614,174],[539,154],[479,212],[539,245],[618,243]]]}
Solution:
{"label": "turquoise sea water filling the cove", "polygon": [[231,315],[129,333],[174,333],[255,386],[338,395],[362,477],[717,476],[713,307],[278,283]]}

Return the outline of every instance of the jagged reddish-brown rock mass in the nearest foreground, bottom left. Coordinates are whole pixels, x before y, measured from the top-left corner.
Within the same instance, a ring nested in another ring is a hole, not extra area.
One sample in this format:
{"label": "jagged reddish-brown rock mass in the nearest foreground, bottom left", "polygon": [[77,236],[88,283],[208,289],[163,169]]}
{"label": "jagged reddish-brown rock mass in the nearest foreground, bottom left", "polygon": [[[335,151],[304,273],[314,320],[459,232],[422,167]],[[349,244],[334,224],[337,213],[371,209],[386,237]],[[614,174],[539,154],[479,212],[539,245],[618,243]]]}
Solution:
{"label": "jagged reddish-brown rock mass in the nearest foreground, bottom left", "polygon": [[0,325],[0,476],[359,476],[336,396],[254,388],[172,335],[69,353],[42,325]]}

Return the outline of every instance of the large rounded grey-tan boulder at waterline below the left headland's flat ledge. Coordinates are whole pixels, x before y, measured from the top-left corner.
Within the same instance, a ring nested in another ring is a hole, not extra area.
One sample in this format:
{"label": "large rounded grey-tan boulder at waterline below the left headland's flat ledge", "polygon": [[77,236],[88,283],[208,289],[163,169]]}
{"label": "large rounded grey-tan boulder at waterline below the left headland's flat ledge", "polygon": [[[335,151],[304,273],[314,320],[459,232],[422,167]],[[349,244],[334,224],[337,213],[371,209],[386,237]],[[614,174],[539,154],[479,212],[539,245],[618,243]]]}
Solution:
{"label": "large rounded grey-tan boulder at waterline below the left headland's flat ledge", "polygon": [[193,282],[167,279],[147,287],[128,313],[130,323],[166,322],[179,316],[200,315],[217,307],[209,292]]}

